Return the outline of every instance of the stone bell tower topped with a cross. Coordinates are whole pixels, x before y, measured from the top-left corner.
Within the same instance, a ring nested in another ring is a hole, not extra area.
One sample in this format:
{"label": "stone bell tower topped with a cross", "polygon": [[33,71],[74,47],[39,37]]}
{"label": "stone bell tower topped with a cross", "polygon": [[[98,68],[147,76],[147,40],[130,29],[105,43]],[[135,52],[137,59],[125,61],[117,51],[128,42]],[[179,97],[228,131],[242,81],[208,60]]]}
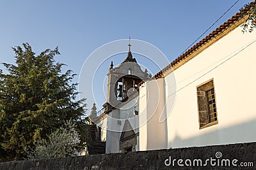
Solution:
{"label": "stone bell tower topped with a cross", "polygon": [[[151,77],[147,69],[141,70],[136,59],[132,57],[131,38],[129,38],[129,51],[125,60],[117,67],[111,61],[108,71],[108,97],[107,103],[115,106],[126,101],[129,93],[137,89],[138,83]],[[105,105],[105,104],[104,104]]]}

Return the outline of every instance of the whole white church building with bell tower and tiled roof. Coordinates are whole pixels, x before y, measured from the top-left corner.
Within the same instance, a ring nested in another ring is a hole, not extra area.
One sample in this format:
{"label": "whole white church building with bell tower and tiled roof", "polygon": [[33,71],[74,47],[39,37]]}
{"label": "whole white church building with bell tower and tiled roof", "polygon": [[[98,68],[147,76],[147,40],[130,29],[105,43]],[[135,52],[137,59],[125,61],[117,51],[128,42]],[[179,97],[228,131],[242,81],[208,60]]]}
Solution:
{"label": "whole white church building with bell tower and tiled roof", "polygon": [[91,116],[106,153],[256,141],[256,31],[243,33],[240,15],[154,76],[129,43],[124,62],[109,67],[104,108]]}

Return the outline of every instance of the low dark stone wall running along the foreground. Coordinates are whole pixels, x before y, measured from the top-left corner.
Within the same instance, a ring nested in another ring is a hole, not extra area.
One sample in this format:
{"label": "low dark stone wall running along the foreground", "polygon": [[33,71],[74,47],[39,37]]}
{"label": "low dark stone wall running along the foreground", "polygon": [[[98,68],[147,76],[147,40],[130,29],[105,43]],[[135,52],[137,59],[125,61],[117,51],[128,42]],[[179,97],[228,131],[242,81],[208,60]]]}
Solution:
{"label": "low dark stone wall running along the foreground", "polygon": [[[189,160],[191,160],[192,166],[187,166],[190,164]],[[200,166],[200,160],[202,160],[202,166]],[[178,162],[180,165],[184,166],[179,166]],[[228,162],[230,162],[230,166],[228,166]],[[195,167],[193,167],[193,164],[195,164]],[[23,160],[0,163],[0,169],[2,170],[173,169],[173,167],[174,169],[241,169],[241,166],[247,166],[247,169],[255,169],[256,143],[152,150],[145,152],[111,153],[106,155],[67,157],[63,159]]]}

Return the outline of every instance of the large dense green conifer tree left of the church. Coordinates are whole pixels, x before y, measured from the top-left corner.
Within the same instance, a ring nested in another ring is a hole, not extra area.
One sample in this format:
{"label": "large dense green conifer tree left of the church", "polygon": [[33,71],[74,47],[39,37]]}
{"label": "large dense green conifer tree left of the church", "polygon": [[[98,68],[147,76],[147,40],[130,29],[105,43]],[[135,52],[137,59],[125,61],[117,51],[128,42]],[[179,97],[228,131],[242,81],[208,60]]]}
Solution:
{"label": "large dense green conifer tree left of the church", "polygon": [[[25,155],[24,148],[35,148],[36,141],[60,128],[67,120],[77,124],[82,145],[86,134],[84,99],[76,101],[76,74],[61,72],[56,62],[58,47],[35,55],[31,46],[13,48],[15,64],[0,69],[0,152],[1,161]],[[80,145],[80,146],[81,146]]]}

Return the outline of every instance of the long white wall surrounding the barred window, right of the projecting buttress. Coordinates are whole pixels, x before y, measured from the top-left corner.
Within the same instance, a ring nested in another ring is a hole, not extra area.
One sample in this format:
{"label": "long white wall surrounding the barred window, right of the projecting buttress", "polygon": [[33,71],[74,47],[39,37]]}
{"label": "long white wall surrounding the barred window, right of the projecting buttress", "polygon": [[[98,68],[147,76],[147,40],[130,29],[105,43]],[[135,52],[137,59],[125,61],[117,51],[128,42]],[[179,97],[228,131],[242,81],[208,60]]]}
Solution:
{"label": "long white wall surrounding the barred window, right of the projecting buttress", "polygon": [[[237,27],[175,70],[177,90],[189,85],[177,92],[168,117],[170,147],[256,141],[252,133],[256,129],[255,41],[255,31],[243,34],[241,27]],[[214,78],[218,124],[199,130],[196,86],[211,78]]]}

